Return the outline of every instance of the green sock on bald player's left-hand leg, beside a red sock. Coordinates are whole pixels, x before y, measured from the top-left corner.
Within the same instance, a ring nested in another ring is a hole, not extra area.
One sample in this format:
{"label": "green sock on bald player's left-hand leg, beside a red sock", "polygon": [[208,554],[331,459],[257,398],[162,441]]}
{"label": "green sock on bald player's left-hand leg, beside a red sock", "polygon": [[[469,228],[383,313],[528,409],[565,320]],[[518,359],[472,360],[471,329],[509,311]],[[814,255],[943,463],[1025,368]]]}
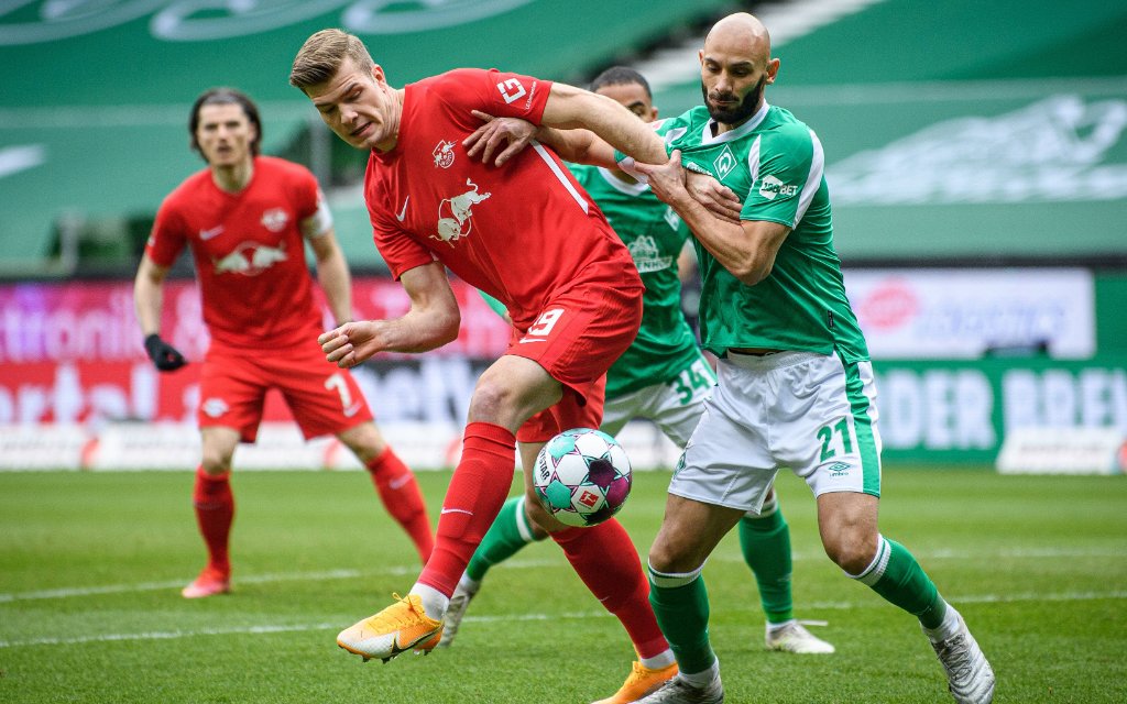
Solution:
{"label": "green sock on bald player's left-hand leg, beside a red sock", "polygon": [[[703,568],[701,568],[703,569]],[[701,569],[667,574],[649,568],[649,603],[682,672],[703,672],[716,663],[708,638],[708,589]]]}

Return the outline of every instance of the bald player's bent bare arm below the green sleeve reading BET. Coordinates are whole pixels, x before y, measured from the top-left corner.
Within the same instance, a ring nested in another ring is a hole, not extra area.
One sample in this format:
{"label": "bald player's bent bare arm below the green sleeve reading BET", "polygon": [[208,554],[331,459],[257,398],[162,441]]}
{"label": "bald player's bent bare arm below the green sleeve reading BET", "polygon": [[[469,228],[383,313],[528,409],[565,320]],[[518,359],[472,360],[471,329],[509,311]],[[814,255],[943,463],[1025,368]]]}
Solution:
{"label": "bald player's bent bare arm below the green sleeve reading BET", "polygon": [[680,151],[674,151],[660,166],[639,163],[635,168],[649,179],[654,194],[676,211],[693,237],[733,276],[754,286],[771,274],[775,255],[790,228],[752,220],[734,223],[709,211],[685,187]]}

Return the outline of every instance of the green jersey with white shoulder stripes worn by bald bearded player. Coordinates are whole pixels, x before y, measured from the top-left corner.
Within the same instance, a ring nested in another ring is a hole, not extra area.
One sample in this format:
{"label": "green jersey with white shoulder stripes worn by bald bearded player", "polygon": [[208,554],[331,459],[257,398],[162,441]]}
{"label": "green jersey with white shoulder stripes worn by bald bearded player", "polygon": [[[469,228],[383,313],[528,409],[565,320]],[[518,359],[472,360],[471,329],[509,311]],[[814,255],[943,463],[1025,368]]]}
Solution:
{"label": "green jersey with white shoulder stripes worn by bald bearded player", "polygon": [[[789,110],[764,103],[736,130],[712,135],[704,106],[666,119],[657,132],[681,150],[686,169],[711,173],[744,204],[743,220],[791,228],[771,275],[754,286],[736,279],[696,242],[701,336],[722,355],[765,347],[869,358],[834,251],[822,143]],[[619,154],[621,158],[622,155]]]}

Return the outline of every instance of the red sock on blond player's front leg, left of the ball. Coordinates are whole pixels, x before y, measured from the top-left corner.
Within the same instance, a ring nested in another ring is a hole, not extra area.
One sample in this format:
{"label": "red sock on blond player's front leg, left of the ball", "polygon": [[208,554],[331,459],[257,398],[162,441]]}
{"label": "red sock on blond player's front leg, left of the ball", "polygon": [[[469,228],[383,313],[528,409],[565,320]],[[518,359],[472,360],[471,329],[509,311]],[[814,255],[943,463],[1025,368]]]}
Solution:
{"label": "red sock on blond player's front leg, left of the ball", "polygon": [[[462,461],[450,480],[438,534],[419,582],[454,594],[473,551],[500,511],[516,467],[516,437],[488,422],[465,426]],[[637,555],[636,555],[637,559]]]}

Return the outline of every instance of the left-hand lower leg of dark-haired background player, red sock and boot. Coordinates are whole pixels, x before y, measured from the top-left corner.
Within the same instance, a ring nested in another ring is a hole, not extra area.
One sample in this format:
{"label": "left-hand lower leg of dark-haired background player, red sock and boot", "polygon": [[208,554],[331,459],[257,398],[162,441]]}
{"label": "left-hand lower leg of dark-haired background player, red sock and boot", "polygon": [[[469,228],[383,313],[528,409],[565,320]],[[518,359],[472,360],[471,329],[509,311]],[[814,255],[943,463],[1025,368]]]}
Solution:
{"label": "left-hand lower leg of dark-haired background player, red sock and boot", "polygon": [[231,561],[228,553],[234,497],[231,493],[231,457],[239,445],[239,431],[222,426],[199,429],[202,461],[196,470],[192,502],[199,534],[207,546],[207,564],[181,596],[198,599],[231,590]]}

